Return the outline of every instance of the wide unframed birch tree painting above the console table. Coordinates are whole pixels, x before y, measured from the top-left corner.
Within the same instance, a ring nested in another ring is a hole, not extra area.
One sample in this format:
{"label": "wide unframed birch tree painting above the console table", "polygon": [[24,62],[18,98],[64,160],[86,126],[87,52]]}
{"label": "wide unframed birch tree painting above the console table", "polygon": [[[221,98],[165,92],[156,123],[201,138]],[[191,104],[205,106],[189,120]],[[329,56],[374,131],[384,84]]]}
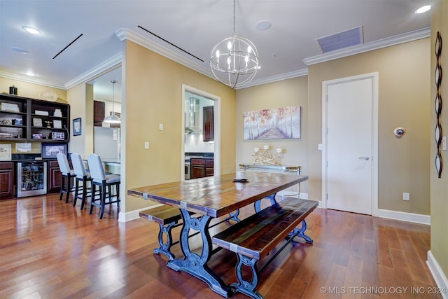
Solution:
{"label": "wide unframed birch tree painting above the console table", "polygon": [[243,113],[244,140],[300,138],[300,106]]}

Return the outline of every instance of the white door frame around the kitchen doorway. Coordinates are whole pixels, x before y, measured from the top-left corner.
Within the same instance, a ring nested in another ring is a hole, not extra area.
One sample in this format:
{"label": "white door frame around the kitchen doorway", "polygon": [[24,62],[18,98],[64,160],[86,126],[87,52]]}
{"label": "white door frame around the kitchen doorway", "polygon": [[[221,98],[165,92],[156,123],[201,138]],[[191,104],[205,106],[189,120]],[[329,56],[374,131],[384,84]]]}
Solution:
{"label": "white door frame around the kitchen doorway", "polygon": [[[221,174],[221,97],[216,95],[212,95],[211,93],[204,92],[203,90],[198,90],[197,88],[193,88],[192,86],[182,84],[182,150],[181,150],[181,165],[185,162],[185,93],[192,92],[202,97],[207,97],[208,99],[212,99],[214,101],[213,112],[214,112],[214,175],[218,176]],[[181,172],[181,181],[185,180],[185,173]]]}

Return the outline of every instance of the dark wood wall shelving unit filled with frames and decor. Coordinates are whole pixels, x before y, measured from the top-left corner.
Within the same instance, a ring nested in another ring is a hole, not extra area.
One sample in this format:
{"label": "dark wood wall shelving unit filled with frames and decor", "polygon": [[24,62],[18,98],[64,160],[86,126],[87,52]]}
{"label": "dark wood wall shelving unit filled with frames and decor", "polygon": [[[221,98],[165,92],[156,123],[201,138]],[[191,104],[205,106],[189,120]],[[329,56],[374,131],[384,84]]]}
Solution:
{"label": "dark wood wall shelving unit filled with frames and decor", "polygon": [[0,95],[0,141],[69,141],[69,104]]}

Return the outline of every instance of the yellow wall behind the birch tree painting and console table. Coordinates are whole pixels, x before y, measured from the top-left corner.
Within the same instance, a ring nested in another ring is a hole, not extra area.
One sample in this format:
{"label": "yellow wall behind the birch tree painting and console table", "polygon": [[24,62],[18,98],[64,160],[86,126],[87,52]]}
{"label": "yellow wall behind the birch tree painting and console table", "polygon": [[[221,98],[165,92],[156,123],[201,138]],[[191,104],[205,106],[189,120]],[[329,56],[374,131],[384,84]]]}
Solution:
{"label": "yellow wall behind the birch tree painting and console table", "polygon": [[[302,107],[300,139],[243,140],[244,112],[288,106]],[[283,158],[279,158],[281,164],[300,166],[301,173],[308,174],[307,76],[237,90],[235,118],[237,166],[239,163],[253,163],[253,148],[258,147],[262,151],[263,146],[268,145],[271,153],[276,153],[276,148],[283,148]],[[300,192],[307,193],[307,182],[300,184]]]}

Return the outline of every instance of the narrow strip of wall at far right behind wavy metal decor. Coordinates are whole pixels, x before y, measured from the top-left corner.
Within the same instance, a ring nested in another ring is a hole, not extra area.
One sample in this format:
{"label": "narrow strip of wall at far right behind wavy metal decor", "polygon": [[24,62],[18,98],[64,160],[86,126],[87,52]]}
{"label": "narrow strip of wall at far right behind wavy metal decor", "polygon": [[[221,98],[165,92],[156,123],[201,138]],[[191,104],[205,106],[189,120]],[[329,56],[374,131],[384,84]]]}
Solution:
{"label": "narrow strip of wall at far right behind wavy metal decor", "polygon": [[[442,55],[441,67],[443,70],[448,70],[448,1],[439,1],[436,6],[431,9],[431,62],[430,62],[430,135],[434,136],[435,128],[435,109],[434,99],[436,95],[434,78],[435,69],[435,36],[440,32],[442,36]],[[447,136],[448,132],[448,76],[442,76],[441,85],[442,101],[442,116],[440,118],[442,125],[442,135]],[[437,263],[444,272],[445,279],[448,277],[448,155],[446,151],[442,151],[442,161],[444,161],[444,168],[442,169],[442,177],[439,179],[435,171],[435,153],[437,148],[435,146],[435,139],[430,139],[430,207],[431,207],[431,253],[437,260]]]}

